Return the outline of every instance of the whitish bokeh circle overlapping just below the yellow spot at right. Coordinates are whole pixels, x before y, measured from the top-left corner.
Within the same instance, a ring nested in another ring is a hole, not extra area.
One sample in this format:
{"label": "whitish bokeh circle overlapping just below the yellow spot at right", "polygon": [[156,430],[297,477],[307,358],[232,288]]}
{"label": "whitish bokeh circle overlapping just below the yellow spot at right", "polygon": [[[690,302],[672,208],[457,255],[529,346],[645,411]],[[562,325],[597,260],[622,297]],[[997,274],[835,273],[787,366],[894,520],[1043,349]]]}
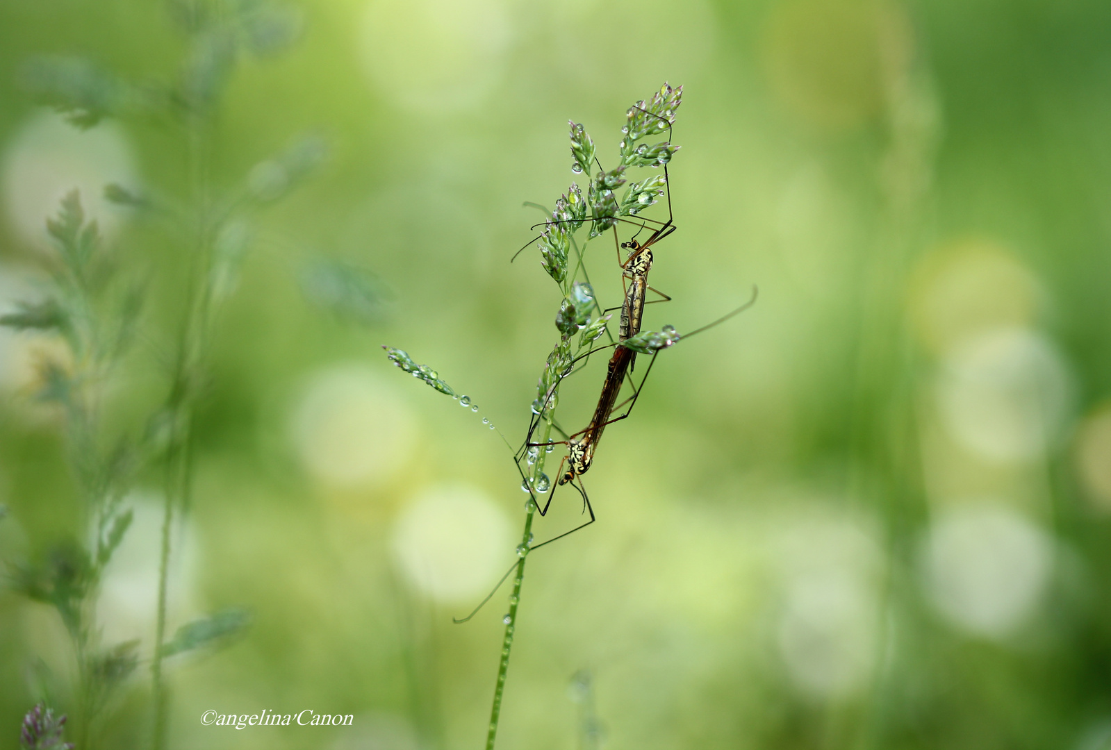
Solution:
{"label": "whitish bokeh circle overlapping just below the yellow spot at right", "polygon": [[957,346],[942,363],[938,403],[953,439],[1000,463],[1037,459],[1059,437],[1070,378],[1044,337],[998,328]]}

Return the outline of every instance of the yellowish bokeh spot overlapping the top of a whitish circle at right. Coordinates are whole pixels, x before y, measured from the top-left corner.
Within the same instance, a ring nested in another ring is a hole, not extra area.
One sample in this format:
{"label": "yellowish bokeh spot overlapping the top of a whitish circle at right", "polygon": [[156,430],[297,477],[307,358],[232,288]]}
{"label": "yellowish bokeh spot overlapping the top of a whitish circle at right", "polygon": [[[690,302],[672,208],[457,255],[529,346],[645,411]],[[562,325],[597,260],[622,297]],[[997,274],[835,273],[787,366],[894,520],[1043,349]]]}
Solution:
{"label": "yellowish bokeh spot overlapping the top of a whitish circle at right", "polygon": [[931,253],[914,272],[910,313],[934,354],[997,328],[1029,327],[1041,306],[1038,280],[1002,246],[969,239]]}

